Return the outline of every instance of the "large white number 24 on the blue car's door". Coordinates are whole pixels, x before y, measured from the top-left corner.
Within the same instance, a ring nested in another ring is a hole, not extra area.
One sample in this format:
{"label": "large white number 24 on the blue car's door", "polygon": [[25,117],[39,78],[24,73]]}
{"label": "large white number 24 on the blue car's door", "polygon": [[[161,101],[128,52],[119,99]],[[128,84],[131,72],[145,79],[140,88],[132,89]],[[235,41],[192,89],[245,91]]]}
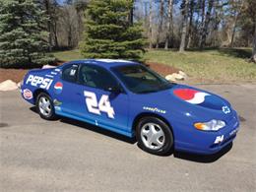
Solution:
{"label": "large white number 24 on the blue car's door", "polygon": [[89,112],[95,114],[101,114],[101,112],[105,112],[109,118],[114,118],[114,109],[109,102],[108,96],[102,95],[97,102],[96,94],[93,92],[84,91],[84,96],[86,96],[86,103]]}

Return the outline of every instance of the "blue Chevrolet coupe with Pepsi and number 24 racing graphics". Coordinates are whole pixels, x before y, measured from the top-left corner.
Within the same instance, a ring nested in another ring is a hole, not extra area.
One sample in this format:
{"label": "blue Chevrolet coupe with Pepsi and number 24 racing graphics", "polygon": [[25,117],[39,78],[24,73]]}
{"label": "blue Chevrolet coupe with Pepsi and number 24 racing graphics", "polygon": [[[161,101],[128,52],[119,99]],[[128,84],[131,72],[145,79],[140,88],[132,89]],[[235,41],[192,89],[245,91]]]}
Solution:
{"label": "blue Chevrolet coupe with Pepsi and number 24 racing graphics", "polygon": [[88,59],[31,70],[22,96],[47,120],[65,116],[134,137],[144,151],[214,154],[239,121],[220,96],[166,81],[143,64]]}

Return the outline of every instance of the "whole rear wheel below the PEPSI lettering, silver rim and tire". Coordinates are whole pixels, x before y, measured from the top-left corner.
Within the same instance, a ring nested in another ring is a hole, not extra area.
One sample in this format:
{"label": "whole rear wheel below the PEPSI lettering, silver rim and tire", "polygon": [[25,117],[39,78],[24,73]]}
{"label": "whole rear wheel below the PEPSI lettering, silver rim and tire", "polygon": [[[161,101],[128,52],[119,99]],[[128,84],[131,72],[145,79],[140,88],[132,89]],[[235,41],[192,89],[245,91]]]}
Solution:
{"label": "whole rear wheel below the PEPSI lettering, silver rim and tire", "polygon": [[54,105],[51,97],[45,93],[41,93],[36,97],[36,109],[40,117],[46,120],[52,120],[56,118]]}

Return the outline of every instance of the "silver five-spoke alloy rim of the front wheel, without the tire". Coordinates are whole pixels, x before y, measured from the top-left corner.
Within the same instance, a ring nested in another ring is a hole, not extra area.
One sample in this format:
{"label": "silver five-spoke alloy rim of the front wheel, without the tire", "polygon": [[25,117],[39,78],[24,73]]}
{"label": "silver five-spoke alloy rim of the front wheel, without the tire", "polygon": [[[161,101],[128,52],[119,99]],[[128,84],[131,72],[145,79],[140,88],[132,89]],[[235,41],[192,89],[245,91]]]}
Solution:
{"label": "silver five-spoke alloy rim of the front wheel, without the tire", "polygon": [[141,139],[144,145],[152,150],[159,150],[165,141],[165,136],[156,123],[146,123],[141,129]]}

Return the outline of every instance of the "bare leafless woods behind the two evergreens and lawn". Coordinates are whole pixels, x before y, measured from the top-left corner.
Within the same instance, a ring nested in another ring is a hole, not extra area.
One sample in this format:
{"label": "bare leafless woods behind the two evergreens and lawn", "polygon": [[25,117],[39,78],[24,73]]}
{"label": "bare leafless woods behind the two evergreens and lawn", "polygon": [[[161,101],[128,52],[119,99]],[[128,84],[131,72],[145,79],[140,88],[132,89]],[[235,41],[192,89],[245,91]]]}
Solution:
{"label": "bare leafless woods behind the two evergreens and lawn", "polygon": [[[87,17],[90,17],[86,14],[87,10],[90,4],[96,2],[96,0],[1,1],[3,1],[0,2],[2,4],[0,8],[0,58],[2,60],[7,54],[5,49],[7,49],[8,43],[4,40],[10,40],[10,32],[7,32],[9,28],[7,26],[10,24],[4,23],[8,18],[8,21],[10,20],[10,13],[15,12],[10,12],[12,7],[7,5],[10,2],[16,2],[18,10],[20,4],[24,2],[39,4],[39,8],[37,8],[47,19],[40,27],[47,32],[46,38],[44,38],[48,43],[48,52],[80,47],[81,42],[85,41]],[[256,61],[255,0],[118,1],[123,4],[132,3],[127,20],[130,25],[142,26],[142,35],[147,42],[144,44],[144,48],[175,48],[182,52],[186,49],[200,50],[208,47],[252,47],[250,60]],[[97,0],[97,2],[107,4],[115,2],[115,0]],[[28,5],[26,6],[28,8]],[[27,13],[26,6],[22,7],[25,14]],[[118,9],[120,11],[122,8]],[[8,35],[5,35],[5,32]],[[18,50],[16,49],[16,51]]]}

